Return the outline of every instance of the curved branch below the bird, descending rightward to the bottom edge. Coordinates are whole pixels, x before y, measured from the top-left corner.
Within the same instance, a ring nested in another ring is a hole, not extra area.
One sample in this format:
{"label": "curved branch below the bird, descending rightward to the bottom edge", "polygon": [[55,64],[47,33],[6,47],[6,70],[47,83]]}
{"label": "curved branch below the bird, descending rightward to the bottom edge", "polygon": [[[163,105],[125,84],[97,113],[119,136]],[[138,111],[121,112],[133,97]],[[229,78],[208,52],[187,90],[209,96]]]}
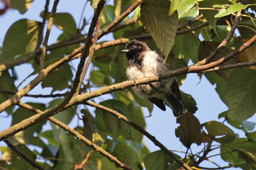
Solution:
{"label": "curved branch below the bird, descending rightward to the bottom edge", "polygon": [[127,119],[124,115],[118,113],[117,111],[114,111],[112,109],[109,109],[107,107],[101,106],[100,104],[92,103],[87,101],[85,103],[86,105],[99,108],[101,110],[107,111],[110,114],[112,114],[115,117],[118,117],[119,119],[125,121],[129,125],[131,125],[134,129],[138,130],[140,133],[145,135],[148,139],[150,139],[156,146],[158,146],[160,149],[162,149],[167,155],[169,155],[174,161],[176,161],[178,164],[183,166],[186,170],[192,170],[186,163],[184,163],[182,160],[180,160],[173,152],[169,151],[161,142],[159,142],[154,136],[149,134],[145,129],[143,129],[141,126],[137,125],[133,121]]}

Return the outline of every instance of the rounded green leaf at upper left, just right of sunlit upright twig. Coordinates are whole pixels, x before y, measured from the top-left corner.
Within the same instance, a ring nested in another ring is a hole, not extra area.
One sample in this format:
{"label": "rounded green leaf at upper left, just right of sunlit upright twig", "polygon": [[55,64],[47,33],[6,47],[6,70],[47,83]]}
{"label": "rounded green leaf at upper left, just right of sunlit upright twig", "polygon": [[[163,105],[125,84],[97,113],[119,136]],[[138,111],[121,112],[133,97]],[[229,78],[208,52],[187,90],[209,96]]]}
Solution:
{"label": "rounded green leaf at upper left, just right of sunlit upright twig", "polygon": [[[50,18],[50,12],[47,14],[47,19]],[[41,12],[40,17],[44,15],[44,11]],[[60,30],[68,34],[76,34],[77,26],[76,21],[69,13],[55,13],[53,24],[56,25]]]}

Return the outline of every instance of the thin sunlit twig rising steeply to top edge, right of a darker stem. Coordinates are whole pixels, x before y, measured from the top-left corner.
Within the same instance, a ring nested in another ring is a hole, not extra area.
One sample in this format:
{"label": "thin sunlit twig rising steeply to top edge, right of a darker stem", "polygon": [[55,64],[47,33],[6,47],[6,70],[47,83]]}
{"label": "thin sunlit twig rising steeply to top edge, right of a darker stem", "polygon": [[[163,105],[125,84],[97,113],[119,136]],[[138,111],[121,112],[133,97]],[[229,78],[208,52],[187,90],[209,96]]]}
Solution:
{"label": "thin sunlit twig rising steeply to top edge, right of a darker stem", "polygon": [[45,60],[46,46],[47,46],[47,43],[48,43],[48,40],[49,40],[49,36],[50,36],[50,32],[51,32],[51,26],[53,24],[53,18],[54,18],[55,12],[57,10],[57,5],[58,5],[59,1],[60,0],[55,0],[54,1],[53,7],[52,7],[52,10],[51,10],[51,14],[50,14],[50,18],[49,18],[49,21],[48,21],[48,24],[47,24],[45,40],[44,40],[44,43],[43,43],[41,57],[40,57],[40,65],[39,65],[40,70],[44,69],[44,60]]}

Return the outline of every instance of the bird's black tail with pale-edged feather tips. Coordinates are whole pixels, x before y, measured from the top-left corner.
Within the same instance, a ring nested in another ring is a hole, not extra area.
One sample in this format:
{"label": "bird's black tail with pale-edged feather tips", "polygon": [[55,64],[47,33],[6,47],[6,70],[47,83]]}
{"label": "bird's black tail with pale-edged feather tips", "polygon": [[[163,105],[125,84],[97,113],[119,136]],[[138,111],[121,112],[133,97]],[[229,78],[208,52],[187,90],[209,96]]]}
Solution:
{"label": "bird's black tail with pale-edged feather tips", "polygon": [[182,113],[187,112],[186,104],[183,101],[178,100],[175,96],[168,96],[166,98],[167,103],[173,110],[173,115],[179,117]]}

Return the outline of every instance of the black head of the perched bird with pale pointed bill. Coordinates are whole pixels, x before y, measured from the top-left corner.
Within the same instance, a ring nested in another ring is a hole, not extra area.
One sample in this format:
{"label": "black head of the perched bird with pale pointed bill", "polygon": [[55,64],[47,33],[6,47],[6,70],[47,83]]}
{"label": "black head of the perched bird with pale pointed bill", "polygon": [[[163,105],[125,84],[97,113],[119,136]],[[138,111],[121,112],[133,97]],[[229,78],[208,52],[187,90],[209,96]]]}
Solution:
{"label": "black head of the perched bird with pale pointed bill", "polygon": [[151,51],[146,44],[138,40],[129,41],[122,52],[126,53],[126,57],[130,60],[133,57],[138,57],[143,51]]}

